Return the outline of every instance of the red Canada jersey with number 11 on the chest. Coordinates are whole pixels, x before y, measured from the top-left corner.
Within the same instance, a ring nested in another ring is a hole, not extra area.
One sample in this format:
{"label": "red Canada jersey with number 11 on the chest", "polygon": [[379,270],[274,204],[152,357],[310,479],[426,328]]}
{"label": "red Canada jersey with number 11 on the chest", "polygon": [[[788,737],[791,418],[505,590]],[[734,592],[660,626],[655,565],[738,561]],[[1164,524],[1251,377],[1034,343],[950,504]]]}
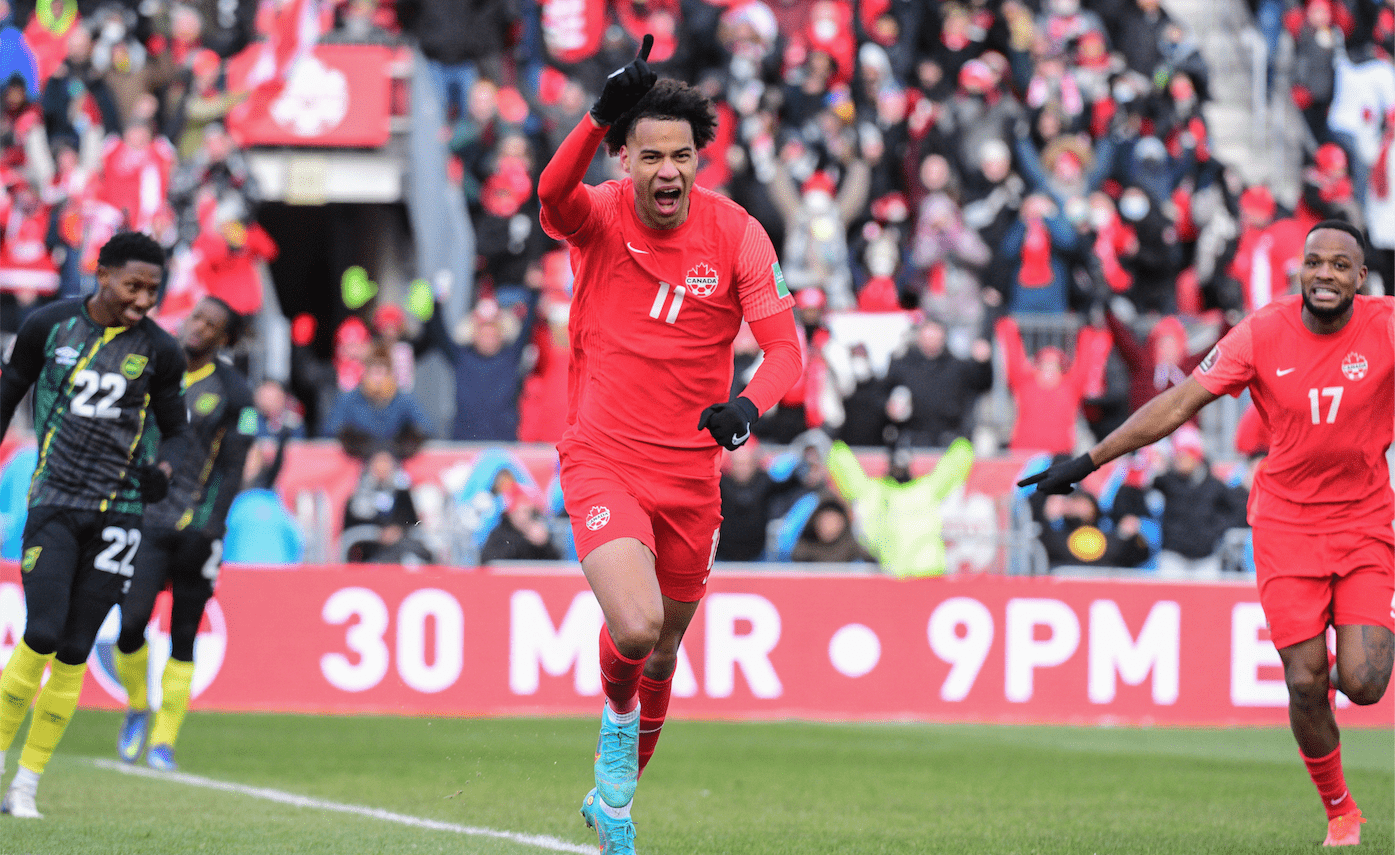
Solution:
{"label": "red Canada jersey with number 11 on the chest", "polygon": [[591,213],[576,232],[558,232],[547,205],[541,216],[548,234],[571,244],[575,276],[566,438],[640,445],[650,459],[716,457],[698,417],[730,396],[742,317],[794,307],[770,237],[744,208],[700,187],[677,229],[640,222],[629,179],[583,190]]}

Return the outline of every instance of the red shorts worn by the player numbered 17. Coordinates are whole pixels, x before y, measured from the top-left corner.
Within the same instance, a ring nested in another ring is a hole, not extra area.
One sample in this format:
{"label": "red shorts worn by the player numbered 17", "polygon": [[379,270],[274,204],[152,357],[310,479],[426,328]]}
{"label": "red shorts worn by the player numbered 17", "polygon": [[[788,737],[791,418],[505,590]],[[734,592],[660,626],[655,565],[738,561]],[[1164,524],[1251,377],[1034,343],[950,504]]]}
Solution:
{"label": "red shorts worn by the player numbered 17", "polygon": [[1254,530],[1260,604],[1278,649],[1331,626],[1395,630],[1395,534],[1389,529],[1309,534]]}

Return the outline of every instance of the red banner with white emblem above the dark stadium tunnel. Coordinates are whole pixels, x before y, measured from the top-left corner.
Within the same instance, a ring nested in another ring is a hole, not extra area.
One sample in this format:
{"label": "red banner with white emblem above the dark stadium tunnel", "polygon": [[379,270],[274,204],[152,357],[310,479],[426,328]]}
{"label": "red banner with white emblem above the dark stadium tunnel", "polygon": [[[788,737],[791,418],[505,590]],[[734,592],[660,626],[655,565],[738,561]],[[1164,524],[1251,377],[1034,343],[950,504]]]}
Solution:
{"label": "red banner with white emblem above the dark stadium tunnel", "polygon": [[[229,89],[244,88],[258,52],[254,45],[229,61]],[[229,127],[244,146],[379,146],[391,135],[389,66],[398,53],[379,45],[315,45],[275,98],[248,100],[229,116]]]}

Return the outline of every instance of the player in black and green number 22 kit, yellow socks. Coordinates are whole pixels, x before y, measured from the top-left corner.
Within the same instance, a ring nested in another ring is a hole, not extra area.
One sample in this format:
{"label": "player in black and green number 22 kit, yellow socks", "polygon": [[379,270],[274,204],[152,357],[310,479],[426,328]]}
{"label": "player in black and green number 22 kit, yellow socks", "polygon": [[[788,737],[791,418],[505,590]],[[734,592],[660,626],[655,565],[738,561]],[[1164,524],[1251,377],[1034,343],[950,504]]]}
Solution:
{"label": "player in black and green number 22 kit, yellow socks", "polygon": [[42,819],[39,775],[77,709],[98,629],[131,584],[141,513],[169,488],[170,457],[153,463],[151,416],[166,455],[187,438],[184,354],[145,317],[163,275],[159,244],[116,234],[98,254],[96,293],[29,315],[0,374],[0,437],[32,386],[39,444],[20,562],[24,637],[0,675],[0,752],[38,695],[0,806],[13,816]]}

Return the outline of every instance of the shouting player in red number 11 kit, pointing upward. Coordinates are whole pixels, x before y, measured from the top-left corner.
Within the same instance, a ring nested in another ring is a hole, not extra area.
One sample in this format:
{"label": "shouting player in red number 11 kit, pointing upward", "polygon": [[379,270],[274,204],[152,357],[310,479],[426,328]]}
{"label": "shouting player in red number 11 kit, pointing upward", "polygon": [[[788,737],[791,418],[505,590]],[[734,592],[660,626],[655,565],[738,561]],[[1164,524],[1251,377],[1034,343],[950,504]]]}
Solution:
{"label": "shouting player in red number 11 kit, pointing upward", "polygon": [[[571,244],[575,273],[557,449],[582,570],[605,615],[596,788],[582,805],[605,855],[635,851],[635,785],[717,550],[721,448],[744,444],[802,371],[769,236],[693,186],[713,105],[657,80],[651,45],[646,35],[639,57],[610,75],[538,180],[543,227]],[[603,138],[628,177],[589,187],[582,176]],[[764,361],[727,400],[742,318]]]}

